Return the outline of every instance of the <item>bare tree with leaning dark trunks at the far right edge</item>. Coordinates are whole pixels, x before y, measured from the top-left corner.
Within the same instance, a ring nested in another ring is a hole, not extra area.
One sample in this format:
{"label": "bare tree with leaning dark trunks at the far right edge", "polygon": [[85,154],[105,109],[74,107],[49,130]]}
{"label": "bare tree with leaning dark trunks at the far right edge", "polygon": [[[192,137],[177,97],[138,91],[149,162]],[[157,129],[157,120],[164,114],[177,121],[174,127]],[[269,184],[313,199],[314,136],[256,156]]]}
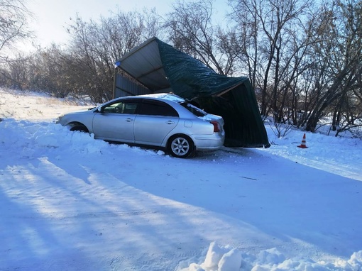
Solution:
{"label": "bare tree with leaning dark trunks at the far right edge", "polygon": [[[351,106],[361,90],[362,1],[333,1],[324,4],[325,18],[316,28],[321,38],[314,47],[312,80],[307,131],[315,131],[322,116],[334,113],[334,126],[340,117],[351,115]],[[354,116],[353,116],[354,118]]]}

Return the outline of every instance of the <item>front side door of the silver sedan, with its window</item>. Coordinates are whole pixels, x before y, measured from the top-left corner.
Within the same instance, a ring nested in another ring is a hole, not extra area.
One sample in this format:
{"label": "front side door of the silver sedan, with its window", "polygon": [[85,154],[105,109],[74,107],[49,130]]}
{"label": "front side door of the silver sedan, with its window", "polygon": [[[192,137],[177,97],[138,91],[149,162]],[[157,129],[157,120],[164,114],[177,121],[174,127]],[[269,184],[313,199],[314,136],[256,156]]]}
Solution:
{"label": "front side door of the silver sedan, with its window", "polygon": [[93,118],[94,137],[104,140],[134,143],[133,125],[138,101],[114,101],[103,106]]}

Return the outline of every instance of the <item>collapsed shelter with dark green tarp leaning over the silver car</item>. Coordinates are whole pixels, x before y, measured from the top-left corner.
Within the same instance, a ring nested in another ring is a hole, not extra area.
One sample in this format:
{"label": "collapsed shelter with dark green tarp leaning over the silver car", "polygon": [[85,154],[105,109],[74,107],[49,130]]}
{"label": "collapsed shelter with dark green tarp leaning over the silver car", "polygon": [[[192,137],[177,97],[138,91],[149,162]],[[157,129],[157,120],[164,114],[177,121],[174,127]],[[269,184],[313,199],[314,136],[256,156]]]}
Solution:
{"label": "collapsed shelter with dark green tarp leaning over the silver car", "polygon": [[248,77],[217,74],[158,38],[133,48],[117,65],[151,93],[172,91],[205,111],[222,116],[226,146],[270,146]]}

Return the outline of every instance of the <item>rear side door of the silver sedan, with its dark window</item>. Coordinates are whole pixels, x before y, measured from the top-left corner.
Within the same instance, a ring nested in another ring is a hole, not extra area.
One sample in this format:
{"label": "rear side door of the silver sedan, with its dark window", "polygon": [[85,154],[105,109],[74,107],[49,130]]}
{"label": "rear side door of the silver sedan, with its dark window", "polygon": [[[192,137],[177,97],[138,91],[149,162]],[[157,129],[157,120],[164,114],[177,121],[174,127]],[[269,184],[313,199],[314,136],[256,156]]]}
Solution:
{"label": "rear side door of the silver sedan, with its dark window", "polygon": [[161,145],[165,136],[177,126],[179,116],[169,104],[143,99],[134,122],[135,143]]}

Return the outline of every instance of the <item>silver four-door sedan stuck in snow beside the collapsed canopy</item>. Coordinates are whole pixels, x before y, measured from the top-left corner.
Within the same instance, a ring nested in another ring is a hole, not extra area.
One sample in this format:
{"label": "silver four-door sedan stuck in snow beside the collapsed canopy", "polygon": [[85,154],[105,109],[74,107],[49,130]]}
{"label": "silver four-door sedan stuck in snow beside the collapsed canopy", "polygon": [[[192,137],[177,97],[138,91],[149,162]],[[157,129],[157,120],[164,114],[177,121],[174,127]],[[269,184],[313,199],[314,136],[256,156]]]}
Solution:
{"label": "silver four-door sedan stuck in snow beside the collapsed canopy", "polygon": [[111,142],[165,149],[174,157],[224,144],[224,120],[175,94],[126,96],[87,111],[64,114],[56,123]]}

